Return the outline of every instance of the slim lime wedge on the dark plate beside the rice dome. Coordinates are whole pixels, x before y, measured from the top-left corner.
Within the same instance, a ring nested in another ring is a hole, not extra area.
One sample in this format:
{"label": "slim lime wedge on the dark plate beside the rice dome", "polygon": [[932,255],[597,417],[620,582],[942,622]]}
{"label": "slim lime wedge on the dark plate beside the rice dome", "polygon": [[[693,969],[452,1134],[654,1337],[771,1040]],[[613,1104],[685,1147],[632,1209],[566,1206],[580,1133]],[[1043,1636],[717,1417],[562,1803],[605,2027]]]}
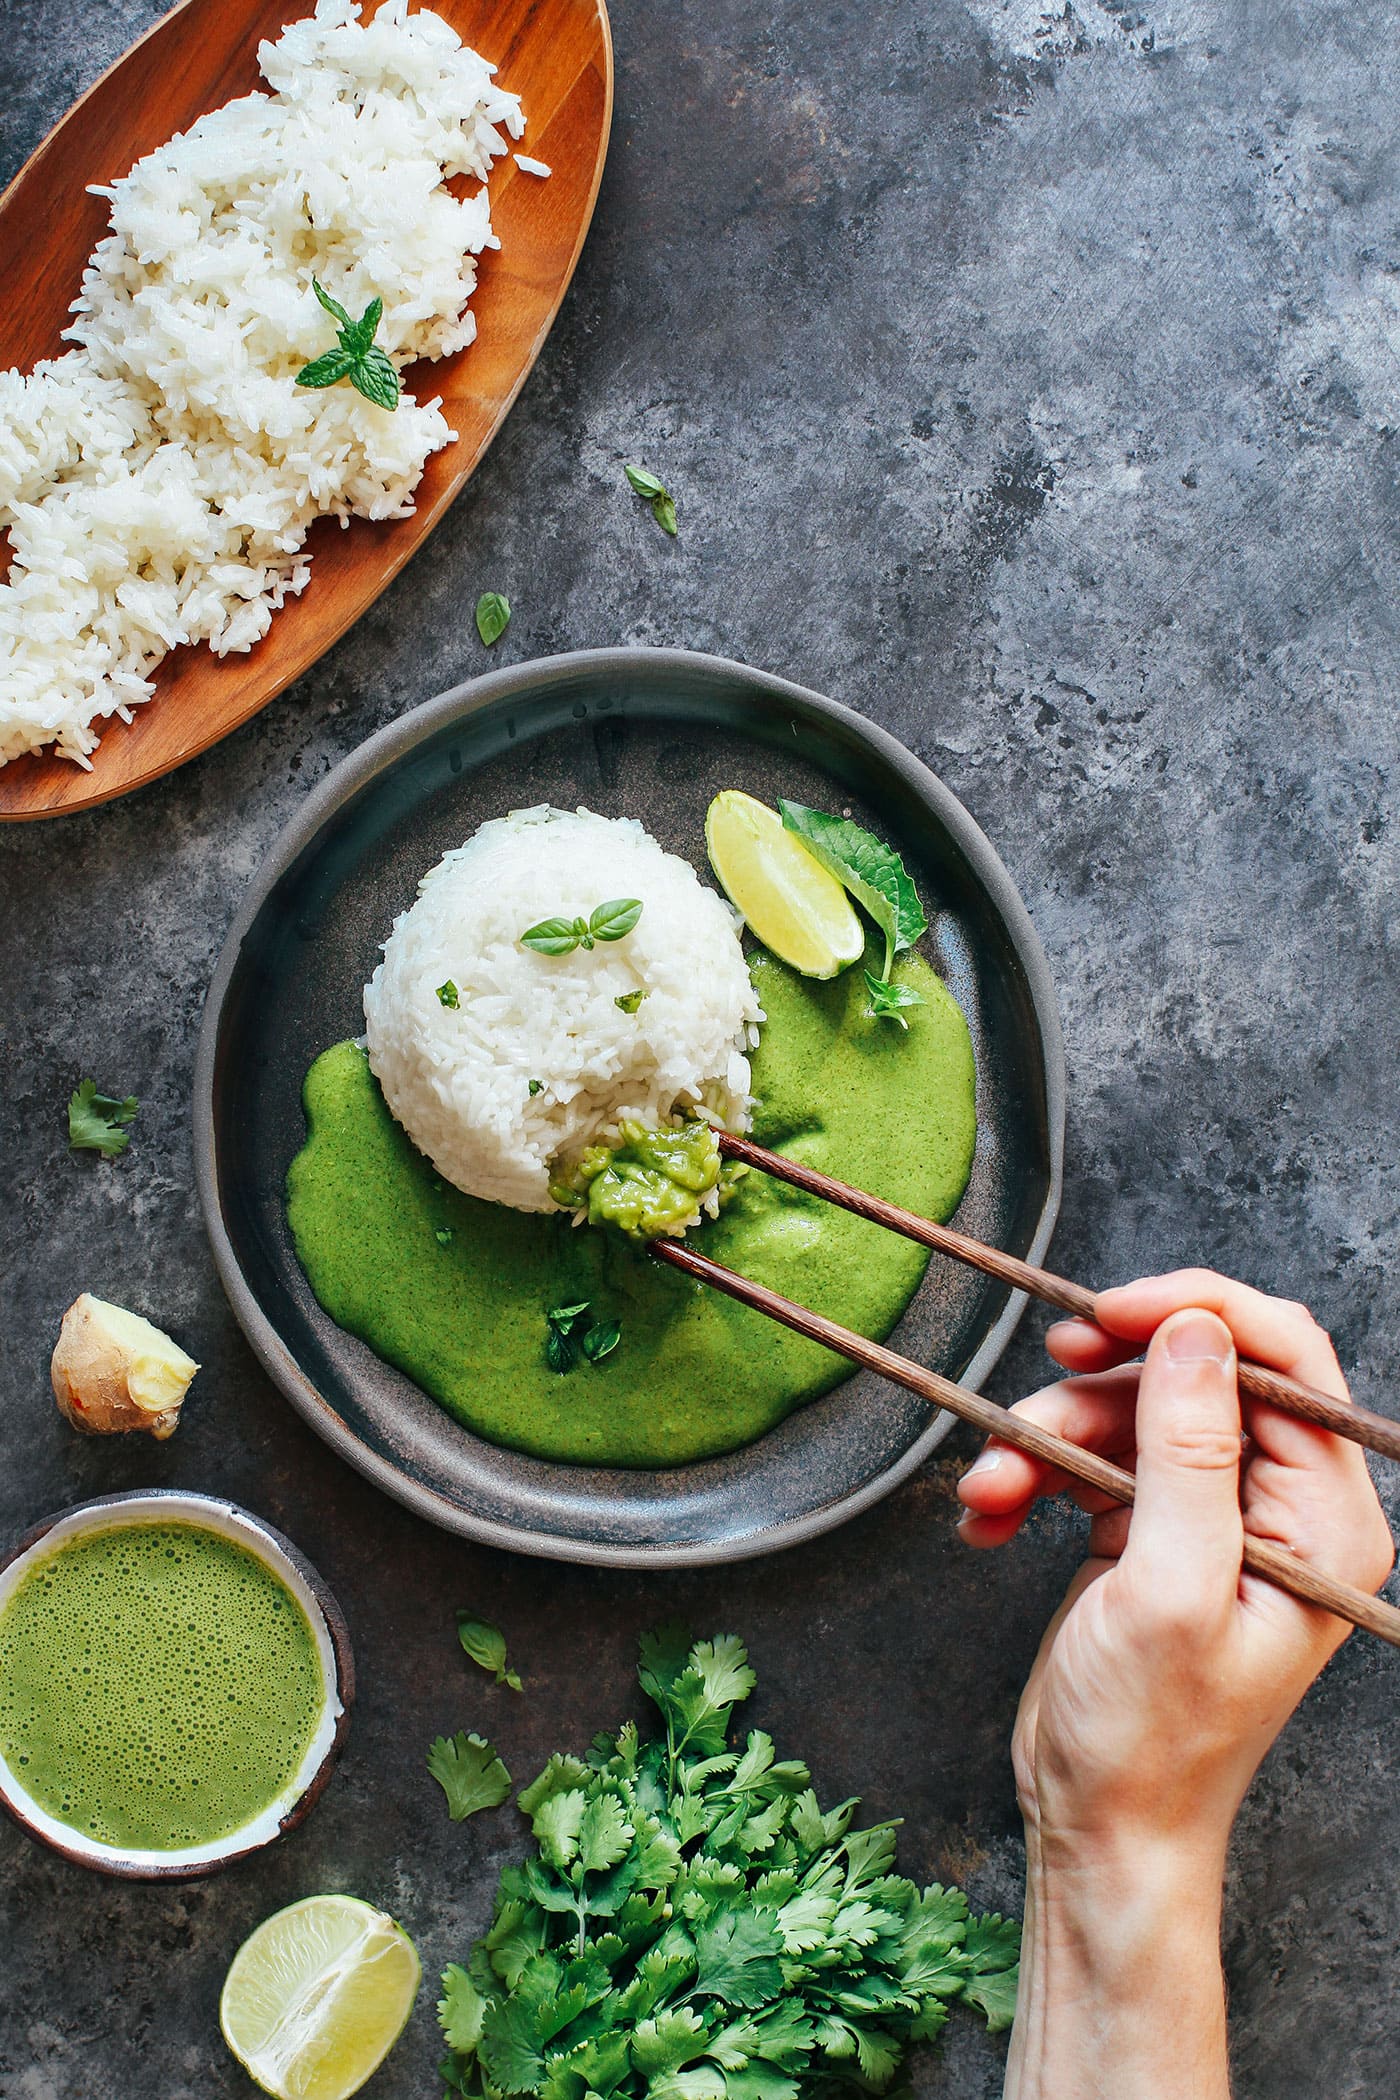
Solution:
{"label": "slim lime wedge on the dark plate beside the rice dome", "polygon": [[726,788],[705,815],[705,850],[754,937],[802,976],[837,976],[865,953],[865,928],[842,884],[783,819]]}

